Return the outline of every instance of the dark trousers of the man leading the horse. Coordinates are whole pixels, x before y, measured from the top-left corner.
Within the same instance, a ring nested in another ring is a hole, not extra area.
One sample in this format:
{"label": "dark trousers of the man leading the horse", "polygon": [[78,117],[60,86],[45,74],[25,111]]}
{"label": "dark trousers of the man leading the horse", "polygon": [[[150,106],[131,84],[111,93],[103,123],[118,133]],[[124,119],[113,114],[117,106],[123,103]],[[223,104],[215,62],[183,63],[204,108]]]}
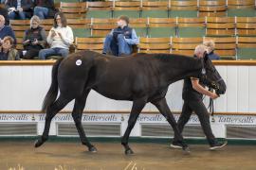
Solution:
{"label": "dark trousers of the man leading the horse", "polygon": [[[203,101],[184,101],[182,112],[177,122],[177,127],[179,131],[183,131],[184,126],[188,123],[192,116],[192,111],[194,111],[195,114],[198,116],[201,127],[203,128],[209,144],[216,144],[216,139],[212,134],[210,128],[210,115]],[[177,140],[174,138],[174,142],[176,141]]]}

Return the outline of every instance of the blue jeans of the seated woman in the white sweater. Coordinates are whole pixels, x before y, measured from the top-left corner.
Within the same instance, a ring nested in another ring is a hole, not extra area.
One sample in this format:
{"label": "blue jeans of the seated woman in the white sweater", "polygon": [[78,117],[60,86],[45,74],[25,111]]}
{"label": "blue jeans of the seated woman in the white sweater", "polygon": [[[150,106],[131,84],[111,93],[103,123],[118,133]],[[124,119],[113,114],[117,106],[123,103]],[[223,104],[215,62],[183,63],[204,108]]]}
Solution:
{"label": "blue jeans of the seated woman in the white sweater", "polygon": [[64,58],[67,57],[69,51],[64,48],[48,48],[40,50],[38,57],[39,59],[46,59],[49,56],[62,56]]}

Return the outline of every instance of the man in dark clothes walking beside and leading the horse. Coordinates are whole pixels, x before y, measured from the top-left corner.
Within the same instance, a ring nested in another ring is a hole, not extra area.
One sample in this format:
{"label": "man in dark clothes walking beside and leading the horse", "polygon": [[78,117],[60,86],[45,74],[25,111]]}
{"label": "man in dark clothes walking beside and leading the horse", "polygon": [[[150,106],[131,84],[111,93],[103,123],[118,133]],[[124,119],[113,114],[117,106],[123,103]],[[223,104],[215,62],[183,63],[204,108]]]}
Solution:
{"label": "man in dark clothes walking beside and leading the horse", "polygon": [[[197,45],[194,50],[194,57],[204,58],[206,53],[206,46],[203,44]],[[184,79],[182,98],[184,100],[181,115],[177,122],[177,127],[180,132],[182,132],[184,126],[188,123],[191,118],[192,111],[198,116],[201,123],[201,127],[207,137],[210,144],[210,150],[216,150],[224,147],[227,142],[219,143],[214,135],[212,134],[210,128],[210,115],[203,103],[203,94],[210,96],[210,98],[215,99],[218,97],[216,93],[211,93],[202,85],[200,79],[191,77]],[[182,145],[177,143],[177,139],[174,138],[171,147],[182,148]]]}

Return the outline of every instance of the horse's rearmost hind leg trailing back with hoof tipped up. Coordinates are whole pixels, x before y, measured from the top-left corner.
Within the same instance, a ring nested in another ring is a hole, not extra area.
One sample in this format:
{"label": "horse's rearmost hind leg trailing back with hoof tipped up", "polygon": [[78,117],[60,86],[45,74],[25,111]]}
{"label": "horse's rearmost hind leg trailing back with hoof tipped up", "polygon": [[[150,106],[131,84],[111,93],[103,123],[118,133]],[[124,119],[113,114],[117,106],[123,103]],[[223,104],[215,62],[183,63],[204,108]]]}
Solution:
{"label": "horse's rearmost hind leg trailing back with hoof tipped up", "polygon": [[64,109],[65,105],[70,102],[71,99],[66,99],[62,95],[46,109],[46,123],[43,135],[40,139],[35,142],[35,147],[39,147],[44,144],[48,139],[49,128],[52,118],[62,109]]}

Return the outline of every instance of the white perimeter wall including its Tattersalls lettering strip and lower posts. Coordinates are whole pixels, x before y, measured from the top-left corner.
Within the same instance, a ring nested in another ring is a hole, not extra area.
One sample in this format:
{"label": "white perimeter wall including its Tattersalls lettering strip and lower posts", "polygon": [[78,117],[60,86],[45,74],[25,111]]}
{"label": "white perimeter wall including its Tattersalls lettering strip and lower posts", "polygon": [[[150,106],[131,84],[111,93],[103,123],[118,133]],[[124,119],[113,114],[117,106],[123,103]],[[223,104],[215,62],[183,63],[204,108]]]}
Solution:
{"label": "white perimeter wall including its Tattersalls lettering strip and lower posts", "polygon": [[[215,100],[215,110],[217,112],[240,112],[240,113],[256,113],[256,66],[217,66],[221,76],[227,82],[227,93]],[[24,119],[19,117],[25,113],[19,113],[22,110],[40,110],[43,99],[48,90],[51,80],[51,65],[9,65],[0,66],[0,110],[7,110],[7,113],[0,115],[0,124],[11,123],[30,123],[37,122],[37,133],[41,135],[44,129],[45,121],[42,119],[44,114],[26,113]],[[168,104],[171,110],[180,111],[182,107],[182,85],[179,81],[170,86],[167,94]],[[101,112],[110,111],[108,114],[101,114],[108,117],[111,111],[130,110],[131,102],[115,101],[107,99],[101,94],[91,92],[87,99],[85,110],[99,110]],[[72,110],[73,101],[64,109]],[[8,110],[17,111],[16,114],[8,113]],[[144,110],[155,111],[155,107],[148,104]],[[5,111],[4,111],[5,112]],[[7,115],[7,117],[5,117]],[[86,116],[92,116],[89,113]],[[143,114],[139,117],[138,123],[131,133],[131,136],[140,136],[140,125],[142,124],[166,124],[163,117],[158,121],[152,121],[151,117],[156,114]],[[9,116],[9,117],[8,117]],[[72,118],[65,120],[66,114],[58,114],[52,122],[50,135],[57,134],[57,123],[70,123]],[[85,115],[83,115],[86,117]],[[116,119],[113,121],[84,121],[94,124],[113,124],[121,125],[121,134],[127,127],[129,114],[114,114]],[[70,116],[69,116],[70,117]],[[35,119],[33,119],[35,118]],[[178,115],[175,115],[175,119]],[[199,124],[198,119],[193,115],[189,124]],[[216,137],[226,137],[227,125],[256,126],[256,114],[252,116],[232,116],[218,115],[216,121],[211,122],[212,131]],[[248,121],[247,121],[248,120]]]}

